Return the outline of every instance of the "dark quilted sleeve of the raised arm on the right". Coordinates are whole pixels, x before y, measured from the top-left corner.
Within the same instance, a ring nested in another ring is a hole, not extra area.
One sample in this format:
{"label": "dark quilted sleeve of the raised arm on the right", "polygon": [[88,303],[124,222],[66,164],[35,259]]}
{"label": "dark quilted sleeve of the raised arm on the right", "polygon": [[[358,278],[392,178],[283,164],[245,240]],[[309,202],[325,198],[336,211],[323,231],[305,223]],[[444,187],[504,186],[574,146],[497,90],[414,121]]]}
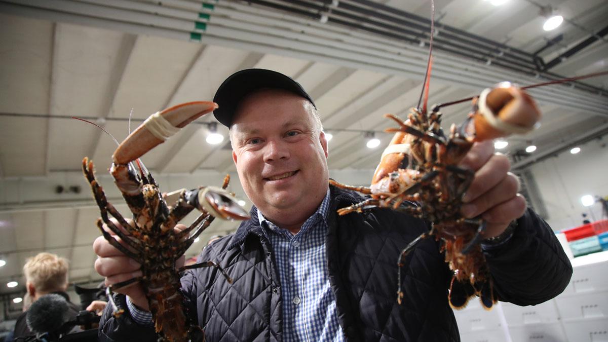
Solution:
{"label": "dark quilted sleeve of the raised arm on the right", "polygon": [[548,301],[564,291],[572,277],[572,265],[555,234],[530,208],[517,220],[509,242],[484,254],[501,301]]}

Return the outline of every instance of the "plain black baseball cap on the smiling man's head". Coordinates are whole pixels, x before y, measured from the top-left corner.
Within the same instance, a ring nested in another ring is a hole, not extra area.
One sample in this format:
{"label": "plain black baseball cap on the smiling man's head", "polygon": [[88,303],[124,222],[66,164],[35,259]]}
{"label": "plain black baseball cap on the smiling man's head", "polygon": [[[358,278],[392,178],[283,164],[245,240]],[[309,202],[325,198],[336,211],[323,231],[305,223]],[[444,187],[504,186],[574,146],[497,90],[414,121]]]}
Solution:
{"label": "plain black baseball cap on the smiling man's head", "polygon": [[263,88],[291,91],[317,108],[300,83],[295,82],[291,77],[272,70],[245,69],[230,75],[215,92],[213,102],[219,105],[219,108],[213,111],[215,119],[222,125],[230,127],[235,111],[244,97]]}

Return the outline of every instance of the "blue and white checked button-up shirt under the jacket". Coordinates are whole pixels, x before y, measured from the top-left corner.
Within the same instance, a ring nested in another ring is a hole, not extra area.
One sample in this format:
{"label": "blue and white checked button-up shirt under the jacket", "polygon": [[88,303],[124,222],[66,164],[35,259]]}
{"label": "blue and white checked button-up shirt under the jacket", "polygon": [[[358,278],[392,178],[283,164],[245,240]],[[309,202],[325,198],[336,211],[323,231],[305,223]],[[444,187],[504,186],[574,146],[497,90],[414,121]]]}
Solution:
{"label": "blue and white checked button-up shirt under the jacket", "polygon": [[[258,211],[281,280],[285,341],[344,341],[327,270],[325,236],[329,205],[328,187],[319,209],[295,235],[278,228]],[[152,313],[137,309],[129,300],[126,304],[137,323],[153,325]]]}

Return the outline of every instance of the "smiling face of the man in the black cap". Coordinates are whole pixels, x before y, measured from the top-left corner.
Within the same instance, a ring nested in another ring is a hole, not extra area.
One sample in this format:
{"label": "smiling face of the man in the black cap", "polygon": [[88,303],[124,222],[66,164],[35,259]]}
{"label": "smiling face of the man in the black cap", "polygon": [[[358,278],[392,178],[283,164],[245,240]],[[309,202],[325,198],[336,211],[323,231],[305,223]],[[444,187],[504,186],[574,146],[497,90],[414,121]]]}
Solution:
{"label": "smiling face of the man in the black cap", "polygon": [[265,215],[319,206],[328,187],[327,141],[310,102],[266,89],[247,97],[233,125],[232,158],[245,193]]}

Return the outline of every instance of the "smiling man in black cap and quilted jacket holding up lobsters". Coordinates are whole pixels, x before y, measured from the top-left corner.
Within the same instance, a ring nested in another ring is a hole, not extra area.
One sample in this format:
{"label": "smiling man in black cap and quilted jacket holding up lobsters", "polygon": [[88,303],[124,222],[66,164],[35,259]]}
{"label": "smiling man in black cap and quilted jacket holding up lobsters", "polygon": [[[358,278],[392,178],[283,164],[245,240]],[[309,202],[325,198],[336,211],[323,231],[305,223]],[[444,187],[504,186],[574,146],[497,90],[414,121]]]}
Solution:
{"label": "smiling man in black cap and quilted jacket holding up lobsters", "polygon": [[[325,133],[299,83],[248,69],[224,81],[214,101],[216,119],[230,128],[233,161],[254,208],[237,232],[199,256],[221,265],[232,284],[214,268],[182,277],[189,315],[207,340],[460,339],[447,293],[452,271],[434,239],[407,256],[405,295],[397,303],[396,260],[428,223],[390,209],[336,214],[365,198],[328,186]],[[482,250],[496,298],[533,305],[561,293],[572,266],[548,225],[517,194],[508,159],[486,141],[460,166],[475,173],[461,213],[488,223]],[[94,249],[95,269],[108,285],[140,275],[140,266],[103,237]],[[126,312],[115,318],[106,308],[100,337],[155,340],[139,285],[118,291]]]}

